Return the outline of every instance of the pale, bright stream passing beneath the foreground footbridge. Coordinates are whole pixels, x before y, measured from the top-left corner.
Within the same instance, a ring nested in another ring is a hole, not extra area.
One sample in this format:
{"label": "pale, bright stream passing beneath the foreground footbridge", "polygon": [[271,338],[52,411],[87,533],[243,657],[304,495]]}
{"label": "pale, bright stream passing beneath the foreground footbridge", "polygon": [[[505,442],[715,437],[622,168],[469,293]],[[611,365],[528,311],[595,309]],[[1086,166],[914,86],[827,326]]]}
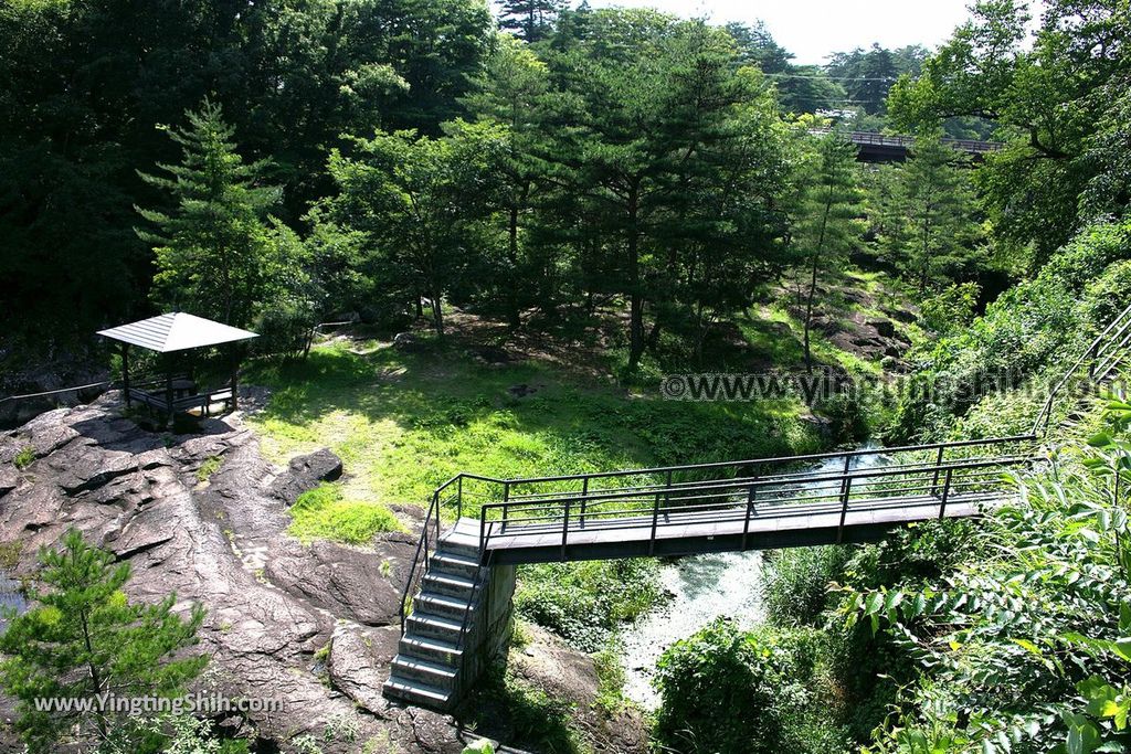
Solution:
{"label": "pale, bright stream passing beneath the foreground footbridge", "polygon": [[[863,445],[862,450],[871,448]],[[864,456],[855,459],[852,468],[866,469],[884,463],[882,456]],[[840,474],[843,465],[843,459],[830,459],[812,466],[811,470]],[[665,649],[720,615],[743,627],[762,622],[761,572],[760,552],[693,555],[665,562],[661,566],[661,580],[671,599],[641,616],[620,635],[624,694],[645,709],[655,710],[659,696],[651,686],[651,677]]]}

